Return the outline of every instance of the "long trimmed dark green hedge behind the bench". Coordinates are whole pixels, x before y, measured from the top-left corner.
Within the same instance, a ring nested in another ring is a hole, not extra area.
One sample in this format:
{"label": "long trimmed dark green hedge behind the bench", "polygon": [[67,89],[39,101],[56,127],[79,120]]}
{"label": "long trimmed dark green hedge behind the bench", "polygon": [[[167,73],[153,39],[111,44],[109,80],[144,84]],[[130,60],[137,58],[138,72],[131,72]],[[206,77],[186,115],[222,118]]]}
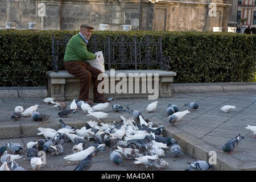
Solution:
{"label": "long trimmed dark green hedge behind the bench", "polygon": [[[0,86],[46,86],[52,70],[51,34],[79,31],[0,30]],[[256,63],[256,35],[228,32],[94,31],[111,38],[163,37],[163,52],[171,56],[175,83],[250,81]]]}

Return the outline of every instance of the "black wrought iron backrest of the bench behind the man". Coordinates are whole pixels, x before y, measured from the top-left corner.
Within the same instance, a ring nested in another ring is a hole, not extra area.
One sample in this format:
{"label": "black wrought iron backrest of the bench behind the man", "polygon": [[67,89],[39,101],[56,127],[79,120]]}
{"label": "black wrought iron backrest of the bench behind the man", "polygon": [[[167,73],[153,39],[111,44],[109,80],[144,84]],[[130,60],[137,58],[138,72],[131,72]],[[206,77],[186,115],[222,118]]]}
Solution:
{"label": "black wrought iron backrest of the bench behind the man", "polygon": [[[52,34],[52,67],[53,71],[64,70],[64,54],[69,39],[73,35],[63,34],[55,39]],[[102,51],[105,69],[150,69],[158,68],[168,71],[170,57],[162,53],[162,36],[156,41],[151,35],[144,35],[138,41],[134,35],[130,40],[126,35],[117,35],[114,40],[107,35],[92,35],[87,44],[88,51]]]}

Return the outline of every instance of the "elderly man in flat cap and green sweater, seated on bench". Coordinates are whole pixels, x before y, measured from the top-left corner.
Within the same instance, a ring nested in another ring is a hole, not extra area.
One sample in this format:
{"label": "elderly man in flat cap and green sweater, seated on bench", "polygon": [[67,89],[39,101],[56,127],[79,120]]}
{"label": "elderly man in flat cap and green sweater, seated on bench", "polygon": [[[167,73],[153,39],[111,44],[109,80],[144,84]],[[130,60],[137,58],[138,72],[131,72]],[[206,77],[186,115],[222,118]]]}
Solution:
{"label": "elderly man in flat cap and green sweater, seated on bench", "polygon": [[[97,77],[102,73],[99,69],[93,68],[90,64],[86,64],[86,60],[96,59],[96,55],[87,50],[86,44],[92,35],[93,27],[89,24],[82,24],[79,34],[72,36],[69,40],[65,56],[64,66],[71,75],[80,78],[80,94],[79,100],[85,101],[90,105],[94,103],[89,100],[90,81],[93,81],[93,97],[94,102],[110,102],[104,98],[104,94],[98,93],[97,87],[102,80]],[[100,57],[100,55],[98,55]],[[103,89],[103,88],[102,88]]]}

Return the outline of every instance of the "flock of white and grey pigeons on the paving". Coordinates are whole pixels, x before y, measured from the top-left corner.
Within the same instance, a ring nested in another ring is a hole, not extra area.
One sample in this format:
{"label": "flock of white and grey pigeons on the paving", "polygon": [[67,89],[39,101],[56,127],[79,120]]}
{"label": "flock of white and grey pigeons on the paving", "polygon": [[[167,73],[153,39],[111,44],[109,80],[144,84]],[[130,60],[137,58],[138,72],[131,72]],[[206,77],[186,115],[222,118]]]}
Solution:
{"label": "flock of white and grey pigeons on the paving", "polygon": [[[85,101],[73,100],[67,108],[65,102],[54,101],[54,98],[48,97],[43,100],[45,104],[53,104],[53,107],[61,110],[57,115],[60,119],[60,129],[55,130],[51,128],[39,127],[37,135],[43,136],[45,139],[38,139],[27,143],[26,155],[30,161],[33,169],[40,169],[42,166],[42,158],[39,157],[39,151],[48,152],[51,155],[63,155],[63,144],[72,142],[73,147],[70,148],[69,155],[64,156],[63,159],[67,161],[76,161],[78,164],[74,171],[86,171],[92,165],[93,156],[100,150],[106,150],[109,153],[110,161],[113,165],[118,166],[122,164],[123,160],[129,160],[133,164],[144,165],[146,167],[153,166],[156,169],[171,168],[170,164],[162,159],[166,153],[172,156],[179,157],[181,154],[181,147],[174,138],[163,137],[164,127],[153,127],[152,122],[144,119],[143,115],[138,110],[133,110],[129,106],[123,109],[121,105],[114,104],[112,109],[115,112],[129,113],[130,118],[125,118],[120,115],[121,121],[119,122],[101,122],[100,119],[108,117],[107,113],[103,110],[109,107],[109,103],[97,104],[92,106]],[[156,110],[158,101],[152,102],[146,108],[148,113]],[[46,115],[36,111],[39,105],[28,107],[26,110],[22,106],[16,106],[14,114],[11,119],[18,121],[22,117],[31,117],[32,121],[46,122],[51,115]],[[177,126],[177,123],[189,114],[191,111],[196,110],[199,105],[196,102],[189,102],[184,104],[188,110],[179,111],[177,105],[168,104],[167,115],[168,122],[172,126]],[[81,129],[65,124],[62,118],[67,118],[69,114],[75,114],[77,109],[81,109],[84,114],[91,115],[96,120],[86,121]],[[221,111],[228,113],[231,109],[236,109],[236,106],[223,106]],[[248,125],[246,129],[253,131],[254,138],[256,134],[256,126]],[[238,144],[241,142],[240,134],[237,137],[230,139],[222,147],[221,151],[231,154],[236,150]],[[89,147],[85,147],[85,143],[93,141]],[[0,156],[2,166],[0,171],[25,171],[26,169],[19,166],[15,160],[26,156],[20,156],[19,153],[24,149],[19,143],[7,142],[5,146],[0,148]],[[189,167],[186,171],[197,170],[206,171],[212,168],[212,164],[206,161],[198,160],[193,163],[187,163]]]}

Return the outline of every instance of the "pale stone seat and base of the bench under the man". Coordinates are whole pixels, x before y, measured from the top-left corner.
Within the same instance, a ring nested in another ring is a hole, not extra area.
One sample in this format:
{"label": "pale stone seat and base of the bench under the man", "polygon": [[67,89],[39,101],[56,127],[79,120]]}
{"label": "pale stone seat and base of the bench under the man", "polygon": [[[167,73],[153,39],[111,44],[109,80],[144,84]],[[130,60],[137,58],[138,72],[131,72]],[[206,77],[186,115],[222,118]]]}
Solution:
{"label": "pale stone seat and base of the bench under the man", "polygon": [[[162,70],[106,70],[104,87],[105,98],[145,98],[157,99],[159,97],[171,97],[171,82],[176,76],[175,72]],[[154,75],[157,74],[157,75]],[[152,77],[151,77],[152,75]],[[59,101],[69,101],[79,98],[80,79],[69,74],[67,71],[48,71],[48,97],[53,97]],[[121,78],[127,77],[126,84]],[[137,79],[137,80],[136,80]],[[114,82],[111,82],[114,81]],[[120,86],[120,82],[123,81]],[[139,81],[139,82],[138,82]],[[148,84],[151,82],[151,85]],[[119,83],[119,85],[118,85]],[[108,84],[108,88],[106,88]],[[126,86],[125,86],[126,85]],[[156,86],[156,88],[155,88]],[[159,88],[157,88],[157,86]],[[126,87],[126,89],[125,89]],[[121,90],[118,91],[118,88]],[[149,89],[148,89],[149,88]],[[130,89],[130,90],[129,90]],[[121,93],[120,93],[121,91]],[[137,91],[137,92],[136,92]],[[138,92],[139,91],[139,92]],[[131,93],[132,92],[132,93]],[[154,97],[153,97],[154,96]],[[89,99],[93,99],[93,84],[91,82]]]}

